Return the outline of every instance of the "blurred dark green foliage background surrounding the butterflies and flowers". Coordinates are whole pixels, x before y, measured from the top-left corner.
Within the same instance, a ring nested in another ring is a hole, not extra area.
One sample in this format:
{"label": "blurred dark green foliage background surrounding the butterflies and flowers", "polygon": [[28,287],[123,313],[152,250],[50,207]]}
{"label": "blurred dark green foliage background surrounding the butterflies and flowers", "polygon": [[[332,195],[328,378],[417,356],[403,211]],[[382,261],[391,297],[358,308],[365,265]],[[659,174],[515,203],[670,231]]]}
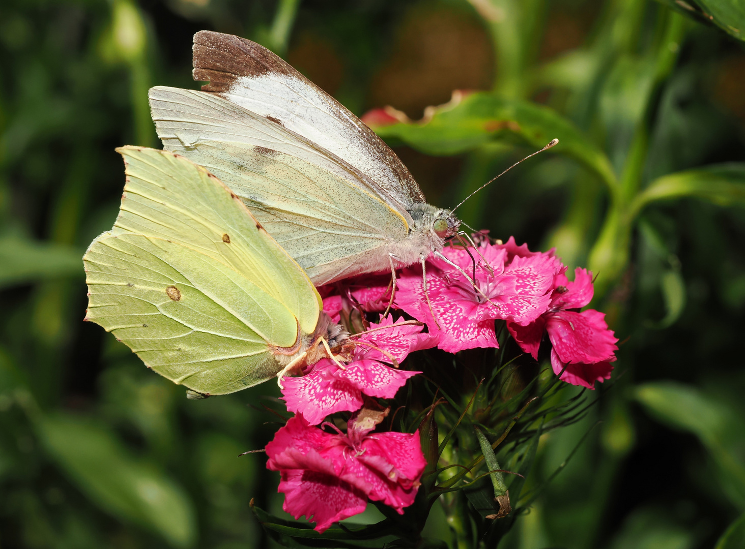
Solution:
{"label": "blurred dark green foliage background surrounding the butterflies and flowers", "polygon": [[[249,502],[281,514],[278,478],[237,455],[272,437],[276,389],[187,400],[82,322],[113,149],[156,143],[147,89],[196,86],[203,28],[259,40],[358,115],[480,90],[378,129],[439,205],[559,138],[458,213],[588,265],[624,344],[599,405],[540,438],[525,489],[542,488],[501,548],[744,547],[742,19],[730,0],[4,1],[0,547],[270,543]],[[447,506],[425,532],[450,542]]]}

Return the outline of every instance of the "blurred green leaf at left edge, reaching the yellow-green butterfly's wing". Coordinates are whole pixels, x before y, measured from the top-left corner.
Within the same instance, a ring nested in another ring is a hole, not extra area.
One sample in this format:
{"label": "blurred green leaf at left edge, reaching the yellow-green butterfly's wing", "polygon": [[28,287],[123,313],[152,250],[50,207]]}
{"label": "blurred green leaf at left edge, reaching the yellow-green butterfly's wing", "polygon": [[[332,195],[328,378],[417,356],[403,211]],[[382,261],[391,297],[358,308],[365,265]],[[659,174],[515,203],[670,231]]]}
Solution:
{"label": "blurred green leaf at left edge, reaching the yellow-green butterfly's wing", "polygon": [[75,248],[17,236],[0,237],[0,288],[82,276],[82,254]]}

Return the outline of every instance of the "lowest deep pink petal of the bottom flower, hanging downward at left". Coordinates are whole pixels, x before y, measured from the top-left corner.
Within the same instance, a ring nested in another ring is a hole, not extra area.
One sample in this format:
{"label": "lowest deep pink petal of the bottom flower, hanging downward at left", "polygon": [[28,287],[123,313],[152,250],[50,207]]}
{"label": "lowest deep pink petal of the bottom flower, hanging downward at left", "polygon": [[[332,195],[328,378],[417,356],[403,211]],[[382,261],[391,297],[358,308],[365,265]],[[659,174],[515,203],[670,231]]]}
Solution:
{"label": "lowest deep pink petal of the bottom flower, hanging downward at left", "polygon": [[288,469],[282,471],[279,492],[285,494],[282,509],[295,518],[305,515],[314,530],[323,532],[334,522],[358,515],[367,507],[367,495],[335,475]]}

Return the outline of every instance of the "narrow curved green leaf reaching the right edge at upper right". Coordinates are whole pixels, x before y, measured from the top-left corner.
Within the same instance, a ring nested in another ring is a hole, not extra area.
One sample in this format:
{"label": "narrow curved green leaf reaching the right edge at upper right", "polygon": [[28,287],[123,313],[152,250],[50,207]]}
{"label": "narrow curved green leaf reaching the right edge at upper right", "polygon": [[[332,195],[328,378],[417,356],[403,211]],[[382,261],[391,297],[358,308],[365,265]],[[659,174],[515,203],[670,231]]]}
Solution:
{"label": "narrow curved green leaf reaching the right edge at upper right", "polygon": [[717,164],[659,177],[638,194],[633,215],[650,202],[688,197],[720,206],[745,206],[745,164]]}

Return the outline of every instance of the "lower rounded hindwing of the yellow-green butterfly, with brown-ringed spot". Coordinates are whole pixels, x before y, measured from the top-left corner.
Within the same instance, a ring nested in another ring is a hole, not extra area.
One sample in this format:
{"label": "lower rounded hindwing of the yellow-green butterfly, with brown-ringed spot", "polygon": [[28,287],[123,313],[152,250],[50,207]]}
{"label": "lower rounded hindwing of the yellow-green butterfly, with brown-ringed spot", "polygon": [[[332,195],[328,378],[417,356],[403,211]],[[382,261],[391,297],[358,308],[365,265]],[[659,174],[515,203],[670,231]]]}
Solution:
{"label": "lower rounded hindwing of the yellow-green butterfly, with brown-ringed spot", "polygon": [[[230,280],[230,269],[211,257],[168,240],[99,237],[85,263],[86,319],[157,373],[199,393],[230,393],[270,379],[279,368],[265,338],[291,345],[296,337],[285,307],[235,273]],[[261,325],[268,314],[271,326]]]}

